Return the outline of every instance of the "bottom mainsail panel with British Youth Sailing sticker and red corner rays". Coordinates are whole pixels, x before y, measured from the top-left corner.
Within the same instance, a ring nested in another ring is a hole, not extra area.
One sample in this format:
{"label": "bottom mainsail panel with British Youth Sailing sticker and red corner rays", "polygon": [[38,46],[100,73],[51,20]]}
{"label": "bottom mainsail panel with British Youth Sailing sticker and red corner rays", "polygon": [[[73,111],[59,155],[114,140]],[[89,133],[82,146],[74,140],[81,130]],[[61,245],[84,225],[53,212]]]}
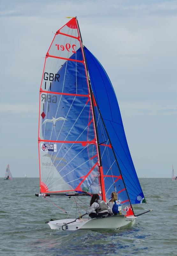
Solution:
{"label": "bottom mainsail panel with British Youth Sailing sticker and red corner rays", "polygon": [[95,145],[41,141],[39,153],[41,192],[99,190]]}

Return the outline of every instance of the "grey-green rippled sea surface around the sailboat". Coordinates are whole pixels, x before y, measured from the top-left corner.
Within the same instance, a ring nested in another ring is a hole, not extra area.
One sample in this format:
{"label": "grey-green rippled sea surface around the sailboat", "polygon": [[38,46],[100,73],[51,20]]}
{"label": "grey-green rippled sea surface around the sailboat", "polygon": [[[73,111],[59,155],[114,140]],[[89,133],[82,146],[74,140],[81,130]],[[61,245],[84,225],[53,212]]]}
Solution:
{"label": "grey-green rippled sea surface around the sailboat", "polygon": [[[45,198],[35,197],[39,179],[0,179],[0,255],[177,255],[177,181],[140,179],[148,204],[134,206],[139,216],[133,225],[115,231],[51,230],[46,221],[63,213]],[[89,198],[85,198],[87,203]],[[67,212],[68,197],[49,199]],[[72,208],[71,217],[79,216]]]}

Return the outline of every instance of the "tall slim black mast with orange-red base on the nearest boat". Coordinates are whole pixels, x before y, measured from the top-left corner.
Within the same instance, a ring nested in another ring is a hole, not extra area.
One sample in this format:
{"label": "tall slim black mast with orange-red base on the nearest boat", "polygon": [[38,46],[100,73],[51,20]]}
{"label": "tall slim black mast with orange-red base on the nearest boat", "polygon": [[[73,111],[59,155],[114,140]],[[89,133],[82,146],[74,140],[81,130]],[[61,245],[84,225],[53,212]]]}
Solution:
{"label": "tall slim black mast with orange-red base on the nearest boat", "polygon": [[96,122],[95,122],[96,118],[95,118],[95,111],[94,111],[94,104],[93,104],[92,87],[91,87],[91,82],[90,82],[90,77],[89,77],[89,72],[88,72],[87,61],[86,61],[86,57],[85,57],[85,50],[84,50],[84,46],[83,46],[82,36],[81,36],[81,33],[80,33],[80,28],[79,28],[79,24],[78,24],[78,21],[77,21],[77,17],[76,17],[76,22],[77,22],[77,27],[78,27],[78,34],[79,34],[80,39],[81,39],[81,49],[82,49],[83,57],[84,57],[84,61],[85,61],[86,77],[87,77],[87,82],[88,82],[89,91],[90,91],[91,106],[92,106],[92,113],[93,113],[93,124],[94,124],[94,127],[95,127],[96,145],[97,145],[98,158],[99,158],[99,169],[100,169],[100,180],[101,180],[101,189],[102,189],[102,199],[103,199],[104,201],[106,201],[105,186],[104,186],[104,177],[103,177],[103,168],[102,168],[102,163],[101,163],[100,145],[99,145],[99,139],[98,139],[97,125],[96,125]]}

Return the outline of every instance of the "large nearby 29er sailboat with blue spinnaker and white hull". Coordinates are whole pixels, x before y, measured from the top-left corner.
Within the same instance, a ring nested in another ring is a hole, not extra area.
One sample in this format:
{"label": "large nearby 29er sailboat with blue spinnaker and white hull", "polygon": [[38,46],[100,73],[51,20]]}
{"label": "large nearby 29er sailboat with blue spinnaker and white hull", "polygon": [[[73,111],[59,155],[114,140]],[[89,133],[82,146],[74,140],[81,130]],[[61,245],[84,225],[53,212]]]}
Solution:
{"label": "large nearby 29er sailboat with blue spinnaker and white hull", "polygon": [[[134,221],[132,204],[146,203],[129,152],[113,86],[83,45],[73,17],[55,33],[45,58],[39,108],[40,193],[107,202],[115,191],[122,214],[48,221],[51,229],[115,229]],[[80,202],[79,201],[79,202]],[[85,215],[85,214],[84,214]]]}

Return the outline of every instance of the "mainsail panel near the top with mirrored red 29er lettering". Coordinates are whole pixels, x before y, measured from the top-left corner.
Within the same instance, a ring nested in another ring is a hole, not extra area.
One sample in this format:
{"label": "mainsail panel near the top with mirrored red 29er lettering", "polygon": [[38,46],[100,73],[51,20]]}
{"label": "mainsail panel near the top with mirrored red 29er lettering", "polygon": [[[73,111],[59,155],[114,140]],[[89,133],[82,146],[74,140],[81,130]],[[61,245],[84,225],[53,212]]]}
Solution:
{"label": "mainsail panel near the top with mirrored red 29er lettering", "polygon": [[[54,40],[48,50],[50,56],[72,59],[72,60],[83,60],[81,51],[81,43],[78,39],[56,34]],[[48,55],[47,54],[47,55]]]}

